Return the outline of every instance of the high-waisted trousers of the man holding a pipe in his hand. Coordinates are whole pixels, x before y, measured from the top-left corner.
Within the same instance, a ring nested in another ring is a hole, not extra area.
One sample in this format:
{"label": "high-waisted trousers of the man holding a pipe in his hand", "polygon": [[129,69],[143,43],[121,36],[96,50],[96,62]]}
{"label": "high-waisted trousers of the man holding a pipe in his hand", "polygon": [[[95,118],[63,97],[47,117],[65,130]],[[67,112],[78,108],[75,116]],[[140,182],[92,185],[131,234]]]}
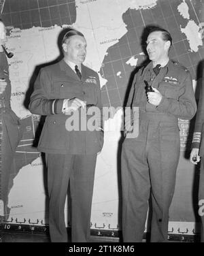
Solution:
{"label": "high-waisted trousers of the man holding a pipe in his hand", "polygon": [[150,119],[139,120],[137,138],[126,138],[122,146],[124,242],[142,241],[150,197],[150,241],[167,242],[169,207],[180,157],[180,133],[177,122],[168,123],[156,114],[148,117]]}

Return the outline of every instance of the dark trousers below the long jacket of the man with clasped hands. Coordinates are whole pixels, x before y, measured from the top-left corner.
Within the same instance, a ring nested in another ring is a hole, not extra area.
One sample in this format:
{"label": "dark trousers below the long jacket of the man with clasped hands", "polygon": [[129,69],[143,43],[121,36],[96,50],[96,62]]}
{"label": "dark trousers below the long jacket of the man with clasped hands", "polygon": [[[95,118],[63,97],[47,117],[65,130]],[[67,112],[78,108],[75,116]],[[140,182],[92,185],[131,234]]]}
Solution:
{"label": "dark trousers below the long jacket of the man with clasped hands", "polygon": [[68,242],[65,199],[71,193],[71,242],[88,242],[97,155],[47,154],[49,229],[52,242]]}

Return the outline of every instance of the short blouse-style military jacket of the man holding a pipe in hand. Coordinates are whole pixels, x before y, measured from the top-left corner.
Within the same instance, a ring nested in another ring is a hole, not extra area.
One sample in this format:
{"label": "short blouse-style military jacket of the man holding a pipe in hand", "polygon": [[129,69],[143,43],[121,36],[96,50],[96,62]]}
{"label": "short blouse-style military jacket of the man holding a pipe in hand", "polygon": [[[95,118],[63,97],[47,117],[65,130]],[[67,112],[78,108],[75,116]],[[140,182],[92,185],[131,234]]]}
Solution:
{"label": "short blouse-style military jacket of the man holding a pipe in hand", "polygon": [[[146,82],[163,95],[158,106],[148,103]],[[152,74],[150,62],[135,75],[126,106],[190,120],[197,111],[190,72],[179,63],[169,60],[167,65],[160,69],[158,76],[155,76]]]}

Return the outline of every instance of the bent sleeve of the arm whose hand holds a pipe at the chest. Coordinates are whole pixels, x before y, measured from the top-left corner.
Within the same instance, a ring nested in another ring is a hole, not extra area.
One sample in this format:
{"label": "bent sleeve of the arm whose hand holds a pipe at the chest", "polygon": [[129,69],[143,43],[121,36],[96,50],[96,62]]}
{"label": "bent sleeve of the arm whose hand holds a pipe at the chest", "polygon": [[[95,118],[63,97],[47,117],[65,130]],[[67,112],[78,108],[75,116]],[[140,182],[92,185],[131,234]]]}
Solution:
{"label": "bent sleeve of the arm whose hand holds a pipe at the chest", "polygon": [[192,78],[189,71],[178,91],[178,99],[171,99],[163,96],[157,110],[168,114],[173,114],[177,118],[190,120],[197,112],[197,103],[192,88]]}

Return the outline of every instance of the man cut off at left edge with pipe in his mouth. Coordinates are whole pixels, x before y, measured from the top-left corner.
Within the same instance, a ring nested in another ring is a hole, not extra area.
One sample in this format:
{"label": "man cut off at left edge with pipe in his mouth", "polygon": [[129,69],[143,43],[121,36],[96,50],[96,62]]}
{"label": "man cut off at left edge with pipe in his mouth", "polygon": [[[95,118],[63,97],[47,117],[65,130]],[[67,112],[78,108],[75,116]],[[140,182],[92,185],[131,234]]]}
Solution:
{"label": "man cut off at left edge with pipe in his mouth", "polygon": [[[6,30],[0,20],[0,217],[7,219],[6,202],[16,146],[20,140],[19,118],[10,106],[11,83],[7,57],[3,50]],[[4,216],[4,217],[3,217]]]}

